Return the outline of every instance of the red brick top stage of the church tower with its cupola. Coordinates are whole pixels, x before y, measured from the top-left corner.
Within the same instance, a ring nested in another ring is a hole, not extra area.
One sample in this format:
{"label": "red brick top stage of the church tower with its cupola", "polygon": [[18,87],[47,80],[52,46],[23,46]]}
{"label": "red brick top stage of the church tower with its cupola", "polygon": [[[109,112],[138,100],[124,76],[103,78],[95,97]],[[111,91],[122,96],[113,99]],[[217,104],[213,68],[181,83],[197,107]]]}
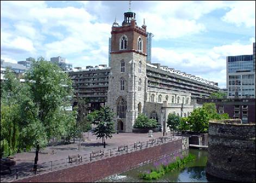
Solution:
{"label": "red brick top stage of the church tower with its cupola", "polygon": [[146,25],[138,27],[135,12],[124,12],[122,26],[115,21],[111,30],[111,54],[135,52],[147,55]]}

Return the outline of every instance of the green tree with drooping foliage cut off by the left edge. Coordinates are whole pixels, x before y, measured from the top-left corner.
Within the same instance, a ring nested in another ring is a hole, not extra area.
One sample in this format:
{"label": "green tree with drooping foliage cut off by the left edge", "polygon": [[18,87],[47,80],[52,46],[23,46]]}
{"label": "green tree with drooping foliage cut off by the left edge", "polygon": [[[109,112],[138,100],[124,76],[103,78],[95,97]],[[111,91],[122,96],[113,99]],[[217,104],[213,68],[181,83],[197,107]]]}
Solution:
{"label": "green tree with drooping foliage cut off by the left edge", "polygon": [[7,68],[1,81],[1,157],[17,153],[20,146],[20,104],[26,97],[26,88]]}

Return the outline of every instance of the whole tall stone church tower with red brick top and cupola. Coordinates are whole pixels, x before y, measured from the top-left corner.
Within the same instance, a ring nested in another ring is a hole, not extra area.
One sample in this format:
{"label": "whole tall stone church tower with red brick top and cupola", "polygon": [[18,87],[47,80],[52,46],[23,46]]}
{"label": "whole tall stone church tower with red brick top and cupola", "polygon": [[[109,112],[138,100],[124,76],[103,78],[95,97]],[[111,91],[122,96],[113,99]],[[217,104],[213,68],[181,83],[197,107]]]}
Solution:
{"label": "whole tall stone church tower with red brick top and cupola", "polygon": [[116,113],[116,129],[132,132],[143,110],[146,92],[147,32],[138,27],[134,12],[125,12],[122,26],[115,21],[111,31],[108,105]]}

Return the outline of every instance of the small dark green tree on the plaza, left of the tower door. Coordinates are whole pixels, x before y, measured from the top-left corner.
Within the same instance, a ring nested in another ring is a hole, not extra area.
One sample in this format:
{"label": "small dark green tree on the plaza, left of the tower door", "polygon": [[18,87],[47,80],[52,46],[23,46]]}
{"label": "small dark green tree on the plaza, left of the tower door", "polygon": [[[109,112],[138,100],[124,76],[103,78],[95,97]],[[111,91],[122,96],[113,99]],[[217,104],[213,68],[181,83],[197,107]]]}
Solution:
{"label": "small dark green tree on the plaza, left of the tower door", "polygon": [[99,110],[95,110],[89,116],[90,120],[93,120],[92,123],[97,125],[97,127],[93,130],[92,135],[96,135],[97,139],[102,138],[102,144],[104,137],[111,138],[112,134],[116,132],[113,116],[114,113],[109,106],[104,106]]}

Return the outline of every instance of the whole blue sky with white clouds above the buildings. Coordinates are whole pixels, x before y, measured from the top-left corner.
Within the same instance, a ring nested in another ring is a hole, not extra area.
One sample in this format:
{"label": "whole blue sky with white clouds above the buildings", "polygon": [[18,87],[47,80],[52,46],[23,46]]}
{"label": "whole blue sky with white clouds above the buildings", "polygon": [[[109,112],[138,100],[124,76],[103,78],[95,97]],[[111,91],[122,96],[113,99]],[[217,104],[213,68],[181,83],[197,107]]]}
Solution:
{"label": "whole blue sky with white clouds above the buildings", "polygon": [[[255,1],[132,1],[154,34],[152,63],[226,87],[226,56],[253,54]],[[129,1],[1,1],[1,59],[62,56],[73,67],[108,64],[108,41]]]}

